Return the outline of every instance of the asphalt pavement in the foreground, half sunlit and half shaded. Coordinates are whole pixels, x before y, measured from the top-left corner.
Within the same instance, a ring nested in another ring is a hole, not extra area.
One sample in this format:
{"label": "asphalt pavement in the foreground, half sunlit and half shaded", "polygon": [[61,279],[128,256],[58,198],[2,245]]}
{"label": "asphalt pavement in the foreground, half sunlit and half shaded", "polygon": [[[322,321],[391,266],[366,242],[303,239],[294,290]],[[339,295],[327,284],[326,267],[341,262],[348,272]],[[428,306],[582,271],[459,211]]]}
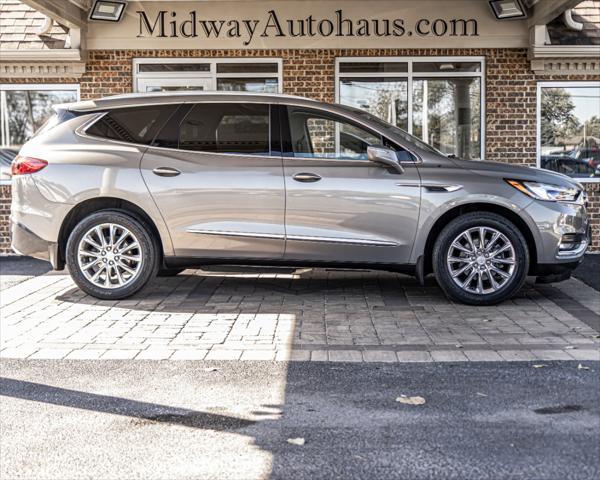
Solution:
{"label": "asphalt pavement in the foreground, half sunlit and half shaded", "polygon": [[600,476],[598,362],[1,365],[0,478]]}

